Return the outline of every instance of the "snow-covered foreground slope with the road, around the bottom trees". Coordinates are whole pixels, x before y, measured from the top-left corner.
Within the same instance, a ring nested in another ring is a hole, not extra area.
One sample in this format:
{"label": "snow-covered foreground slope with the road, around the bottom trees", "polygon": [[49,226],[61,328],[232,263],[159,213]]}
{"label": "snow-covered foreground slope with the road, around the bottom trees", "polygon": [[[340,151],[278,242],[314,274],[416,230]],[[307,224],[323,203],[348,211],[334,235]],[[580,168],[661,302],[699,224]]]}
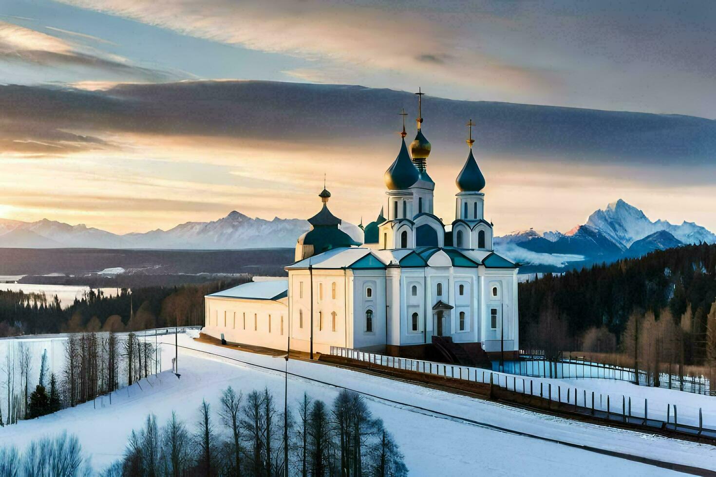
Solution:
{"label": "snow-covered foreground slope with the road, around the bottom trees", "polygon": [[[163,348],[165,368],[173,357],[173,338],[160,337],[160,340],[168,343]],[[77,434],[84,451],[91,456],[93,465],[99,470],[122,455],[127,435],[132,428],[141,426],[147,413],[155,413],[158,421],[163,423],[171,411],[176,410],[185,421],[193,422],[198,417],[201,400],[207,399],[216,410],[218,396],[228,385],[244,394],[267,386],[274,392],[280,405],[284,389],[284,376],[281,373],[284,360],[198,343],[186,335],[180,335],[179,343],[192,348],[180,348],[179,380],[171,373],[150,376],[148,380],[142,380],[141,389],[135,384],[115,391],[111,405],[109,398],[102,397],[96,403],[84,403],[54,415],[1,428],[0,444],[24,447],[33,439],[67,429]],[[216,356],[201,353],[202,350],[215,353]],[[242,365],[228,358],[276,370]],[[587,476],[607,472],[614,475],[652,476],[674,473],[623,458],[495,431],[437,415],[430,410],[545,438],[716,471],[716,448],[713,446],[567,421],[317,363],[291,360],[289,372],[299,375],[289,377],[291,403],[295,403],[304,391],[313,398],[329,402],[338,393],[332,385],[342,385],[377,396],[367,398],[369,407],[394,434],[413,476],[474,475],[478,471],[498,476],[517,473],[538,476]],[[325,384],[300,376],[322,380]],[[379,398],[407,405],[387,403]],[[410,405],[427,410],[417,410]]]}

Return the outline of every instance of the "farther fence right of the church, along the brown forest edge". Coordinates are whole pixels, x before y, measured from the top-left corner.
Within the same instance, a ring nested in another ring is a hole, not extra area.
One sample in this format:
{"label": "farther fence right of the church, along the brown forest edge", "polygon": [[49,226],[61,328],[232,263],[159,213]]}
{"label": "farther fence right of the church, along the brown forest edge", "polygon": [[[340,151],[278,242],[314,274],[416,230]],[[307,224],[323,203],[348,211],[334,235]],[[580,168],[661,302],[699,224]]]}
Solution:
{"label": "farther fence right of the church, along the brown forest edge", "polygon": [[[545,358],[542,350],[520,350],[521,360],[503,363],[501,371],[532,378],[590,379],[602,378],[635,383],[634,368],[599,363],[579,357],[560,357],[557,360]],[[498,369],[495,369],[498,370]],[[651,373],[639,370],[639,384],[653,385]],[[705,376],[680,376],[659,373],[659,388],[683,390],[689,393],[708,395],[710,380]]]}

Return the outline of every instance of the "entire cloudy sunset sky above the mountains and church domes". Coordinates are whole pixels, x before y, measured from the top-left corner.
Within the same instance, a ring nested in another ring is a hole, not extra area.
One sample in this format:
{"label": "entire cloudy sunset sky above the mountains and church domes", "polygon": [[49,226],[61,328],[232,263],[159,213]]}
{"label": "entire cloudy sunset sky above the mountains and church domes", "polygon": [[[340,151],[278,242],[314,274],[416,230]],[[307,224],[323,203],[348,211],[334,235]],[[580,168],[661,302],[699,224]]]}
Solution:
{"label": "entire cloudy sunset sky above the mountains and church domes", "polygon": [[[415,134],[411,93],[421,87],[446,222],[463,124],[475,114],[498,234],[569,230],[619,198],[652,220],[716,230],[712,1],[0,6],[6,219],[124,233],[231,210],[305,218],[325,174],[334,213],[374,220],[400,140],[397,112],[406,109]],[[650,114],[522,107],[504,122],[513,109],[480,102]]]}

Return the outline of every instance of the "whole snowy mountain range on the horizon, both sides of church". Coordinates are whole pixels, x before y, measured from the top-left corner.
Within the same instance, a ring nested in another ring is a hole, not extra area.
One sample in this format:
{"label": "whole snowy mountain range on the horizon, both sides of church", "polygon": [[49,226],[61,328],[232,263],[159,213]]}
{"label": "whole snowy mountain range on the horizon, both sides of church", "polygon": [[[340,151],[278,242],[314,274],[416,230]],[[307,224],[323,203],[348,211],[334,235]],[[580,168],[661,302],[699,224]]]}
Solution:
{"label": "whole snowy mountain range on the horizon, both sides of church", "polygon": [[[0,219],[0,247],[231,250],[294,247],[309,230],[306,220],[263,220],[233,211],[211,222],[185,222],[170,230],[117,235],[86,225],[54,220],[21,222]],[[342,230],[362,241],[362,231],[344,222]],[[642,210],[617,200],[592,213],[569,232],[535,229],[495,237],[495,250],[520,262],[523,272],[560,271],[652,250],[700,242],[716,243],[716,235],[694,222],[674,225],[652,222]]]}

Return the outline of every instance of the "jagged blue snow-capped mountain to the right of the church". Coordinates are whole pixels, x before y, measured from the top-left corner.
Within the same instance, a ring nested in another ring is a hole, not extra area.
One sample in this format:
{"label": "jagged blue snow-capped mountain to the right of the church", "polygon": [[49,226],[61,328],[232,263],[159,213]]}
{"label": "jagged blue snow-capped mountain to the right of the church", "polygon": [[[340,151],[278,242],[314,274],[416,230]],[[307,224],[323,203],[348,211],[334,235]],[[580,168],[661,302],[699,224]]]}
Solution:
{"label": "jagged blue snow-capped mountain to the right of the church", "polygon": [[530,229],[495,237],[495,250],[523,265],[563,268],[639,257],[653,250],[700,242],[716,243],[716,235],[693,222],[652,222],[644,212],[620,199],[596,210],[584,225],[569,232]]}

